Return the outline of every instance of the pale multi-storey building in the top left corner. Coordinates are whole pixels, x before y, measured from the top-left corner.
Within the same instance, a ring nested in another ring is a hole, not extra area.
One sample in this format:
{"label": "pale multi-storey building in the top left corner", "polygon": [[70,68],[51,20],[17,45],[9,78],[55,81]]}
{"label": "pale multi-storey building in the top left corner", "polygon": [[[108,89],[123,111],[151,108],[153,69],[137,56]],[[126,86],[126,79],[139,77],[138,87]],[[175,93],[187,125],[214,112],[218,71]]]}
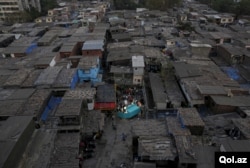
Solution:
{"label": "pale multi-storey building in the top left corner", "polygon": [[36,8],[41,11],[40,0],[0,0],[0,20],[1,21],[18,21],[20,12],[25,9]]}

